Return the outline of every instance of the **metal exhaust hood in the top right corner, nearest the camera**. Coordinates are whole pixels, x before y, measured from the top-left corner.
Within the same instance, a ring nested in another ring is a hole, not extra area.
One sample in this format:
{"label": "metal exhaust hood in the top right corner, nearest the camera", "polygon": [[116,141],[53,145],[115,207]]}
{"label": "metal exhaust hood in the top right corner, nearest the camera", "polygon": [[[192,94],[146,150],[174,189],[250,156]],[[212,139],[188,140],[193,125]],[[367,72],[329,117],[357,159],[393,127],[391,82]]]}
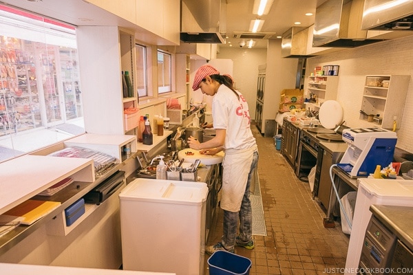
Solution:
{"label": "metal exhaust hood in the top right corner, nearest the camera", "polygon": [[366,0],[363,30],[413,30],[413,0]]}

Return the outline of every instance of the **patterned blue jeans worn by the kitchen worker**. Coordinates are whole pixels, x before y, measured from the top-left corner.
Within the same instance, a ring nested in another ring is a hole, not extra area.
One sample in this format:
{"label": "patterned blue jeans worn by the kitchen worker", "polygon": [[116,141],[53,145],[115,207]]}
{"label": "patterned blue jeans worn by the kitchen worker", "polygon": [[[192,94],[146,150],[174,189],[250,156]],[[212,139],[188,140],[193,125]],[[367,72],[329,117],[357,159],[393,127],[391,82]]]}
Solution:
{"label": "patterned blue jeans worn by the kitchen worker", "polygon": [[251,208],[250,186],[251,178],[254,176],[254,170],[258,163],[258,152],[255,151],[253,155],[253,162],[248,173],[248,181],[244,197],[242,197],[241,209],[239,212],[231,212],[224,210],[224,234],[222,235],[221,243],[226,250],[233,251],[235,246],[235,239],[237,237],[237,225],[240,221],[240,239],[248,243],[251,241],[253,235],[253,211]]}

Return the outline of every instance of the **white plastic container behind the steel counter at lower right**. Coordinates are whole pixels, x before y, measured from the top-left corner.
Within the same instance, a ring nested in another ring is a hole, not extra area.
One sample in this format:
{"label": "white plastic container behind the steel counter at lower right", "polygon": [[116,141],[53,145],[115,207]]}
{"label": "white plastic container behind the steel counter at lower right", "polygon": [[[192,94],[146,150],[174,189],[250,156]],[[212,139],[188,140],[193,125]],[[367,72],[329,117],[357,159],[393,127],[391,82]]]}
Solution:
{"label": "white plastic container behind the steel counter at lower right", "polygon": [[358,181],[345,274],[352,274],[359,267],[366,228],[372,216],[370,206],[413,206],[412,180],[359,178]]}

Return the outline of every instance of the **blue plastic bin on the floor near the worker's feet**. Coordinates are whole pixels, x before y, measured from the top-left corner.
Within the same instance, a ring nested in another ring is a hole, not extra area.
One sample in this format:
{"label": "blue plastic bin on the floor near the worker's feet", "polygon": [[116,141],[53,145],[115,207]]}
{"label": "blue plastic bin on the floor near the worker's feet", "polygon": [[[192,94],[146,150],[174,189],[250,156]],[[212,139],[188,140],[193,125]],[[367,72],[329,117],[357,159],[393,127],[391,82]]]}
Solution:
{"label": "blue plastic bin on the floor near the worker's feet", "polygon": [[251,260],[223,250],[214,252],[208,259],[209,275],[249,274]]}

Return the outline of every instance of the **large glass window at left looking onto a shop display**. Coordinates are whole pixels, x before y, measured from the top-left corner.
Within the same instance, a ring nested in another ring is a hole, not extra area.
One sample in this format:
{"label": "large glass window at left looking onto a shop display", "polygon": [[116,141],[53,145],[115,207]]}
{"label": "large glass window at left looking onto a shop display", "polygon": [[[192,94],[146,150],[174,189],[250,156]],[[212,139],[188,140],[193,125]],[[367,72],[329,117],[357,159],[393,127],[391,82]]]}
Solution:
{"label": "large glass window at left looking onto a shop display", "polygon": [[81,133],[75,28],[0,5],[0,162]]}

